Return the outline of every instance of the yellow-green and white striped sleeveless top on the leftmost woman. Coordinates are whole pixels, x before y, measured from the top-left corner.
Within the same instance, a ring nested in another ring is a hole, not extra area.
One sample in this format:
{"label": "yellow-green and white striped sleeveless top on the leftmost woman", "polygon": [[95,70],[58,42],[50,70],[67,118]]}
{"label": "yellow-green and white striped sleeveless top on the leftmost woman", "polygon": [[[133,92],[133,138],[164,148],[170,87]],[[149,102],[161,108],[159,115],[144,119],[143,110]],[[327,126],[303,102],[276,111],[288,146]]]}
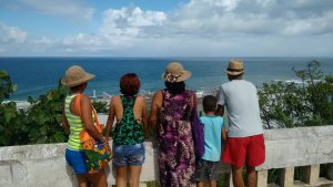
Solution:
{"label": "yellow-green and white striped sleeveless top on the leftmost woman", "polygon": [[[84,126],[81,116],[74,115],[70,111],[70,104],[77,95],[78,94],[68,95],[64,101],[64,114],[65,114],[67,122],[70,126],[70,135],[69,135],[67,147],[72,150],[82,150],[83,147],[81,145],[79,134],[81,133],[82,129],[84,129]],[[92,115],[92,121],[94,124],[95,123],[94,115]]]}

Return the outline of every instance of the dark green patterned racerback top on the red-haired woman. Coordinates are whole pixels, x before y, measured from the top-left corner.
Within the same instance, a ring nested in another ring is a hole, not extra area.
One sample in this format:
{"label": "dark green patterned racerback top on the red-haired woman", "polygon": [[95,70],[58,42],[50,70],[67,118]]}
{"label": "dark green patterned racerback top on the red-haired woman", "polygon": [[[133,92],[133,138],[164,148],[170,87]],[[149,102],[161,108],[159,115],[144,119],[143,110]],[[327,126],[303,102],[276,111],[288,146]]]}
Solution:
{"label": "dark green patterned racerback top on the red-haired woman", "polygon": [[135,145],[144,141],[142,124],[139,124],[134,117],[133,107],[134,97],[120,96],[123,114],[119,124],[115,125],[113,132],[114,145]]}

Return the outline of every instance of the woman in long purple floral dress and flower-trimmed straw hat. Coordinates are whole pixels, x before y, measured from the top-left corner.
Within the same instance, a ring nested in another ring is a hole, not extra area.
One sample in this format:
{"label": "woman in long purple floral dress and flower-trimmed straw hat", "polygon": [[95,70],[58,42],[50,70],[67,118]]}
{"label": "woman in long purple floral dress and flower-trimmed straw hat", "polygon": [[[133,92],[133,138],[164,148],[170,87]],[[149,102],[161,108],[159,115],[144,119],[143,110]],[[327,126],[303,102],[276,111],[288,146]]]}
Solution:
{"label": "woman in long purple floral dress and flower-trimmed straw hat", "polygon": [[196,106],[192,106],[193,92],[185,90],[184,84],[190,76],[191,72],[180,63],[170,63],[162,74],[167,89],[153,96],[150,121],[158,127],[161,187],[195,186],[195,156],[189,118]]}

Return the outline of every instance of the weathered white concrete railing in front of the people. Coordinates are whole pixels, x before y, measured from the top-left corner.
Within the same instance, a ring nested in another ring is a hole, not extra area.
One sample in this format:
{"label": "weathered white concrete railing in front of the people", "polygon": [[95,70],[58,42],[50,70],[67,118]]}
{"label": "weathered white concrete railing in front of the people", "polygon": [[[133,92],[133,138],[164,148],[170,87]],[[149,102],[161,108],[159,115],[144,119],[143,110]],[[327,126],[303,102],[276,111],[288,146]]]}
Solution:
{"label": "weathered white concrete railing in front of the people", "polygon": [[[269,129],[264,132],[266,160],[258,167],[258,186],[333,186],[333,126]],[[77,186],[73,170],[64,159],[65,144],[0,147],[0,186],[59,187]],[[145,143],[147,159],[141,181],[158,180],[158,149]],[[325,178],[320,177],[325,165]],[[302,166],[300,181],[294,168]],[[279,184],[268,184],[268,170],[278,168]],[[108,183],[114,184],[111,163]],[[225,165],[225,173],[229,166]],[[232,184],[229,181],[230,186]]]}

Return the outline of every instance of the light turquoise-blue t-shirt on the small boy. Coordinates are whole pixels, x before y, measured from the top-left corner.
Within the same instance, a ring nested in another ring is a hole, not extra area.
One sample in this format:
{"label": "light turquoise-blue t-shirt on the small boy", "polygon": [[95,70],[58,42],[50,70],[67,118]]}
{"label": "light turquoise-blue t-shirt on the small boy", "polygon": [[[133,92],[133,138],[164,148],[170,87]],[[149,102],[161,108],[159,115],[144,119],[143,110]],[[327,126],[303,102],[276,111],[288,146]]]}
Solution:
{"label": "light turquoise-blue t-shirt on the small boy", "polygon": [[220,162],[223,117],[202,116],[200,121],[204,124],[204,154],[201,158],[210,162]]}

